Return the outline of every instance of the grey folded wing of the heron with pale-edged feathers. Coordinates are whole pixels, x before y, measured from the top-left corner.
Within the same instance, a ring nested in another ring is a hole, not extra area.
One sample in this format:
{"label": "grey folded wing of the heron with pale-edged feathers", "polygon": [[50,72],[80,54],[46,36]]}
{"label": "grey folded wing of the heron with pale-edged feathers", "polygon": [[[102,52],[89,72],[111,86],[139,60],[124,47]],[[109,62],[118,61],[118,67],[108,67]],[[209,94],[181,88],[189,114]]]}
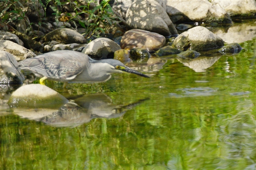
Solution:
{"label": "grey folded wing of the heron with pale-edged feathers", "polygon": [[74,79],[83,71],[83,65],[70,57],[44,56],[23,60],[19,67],[52,79]]}

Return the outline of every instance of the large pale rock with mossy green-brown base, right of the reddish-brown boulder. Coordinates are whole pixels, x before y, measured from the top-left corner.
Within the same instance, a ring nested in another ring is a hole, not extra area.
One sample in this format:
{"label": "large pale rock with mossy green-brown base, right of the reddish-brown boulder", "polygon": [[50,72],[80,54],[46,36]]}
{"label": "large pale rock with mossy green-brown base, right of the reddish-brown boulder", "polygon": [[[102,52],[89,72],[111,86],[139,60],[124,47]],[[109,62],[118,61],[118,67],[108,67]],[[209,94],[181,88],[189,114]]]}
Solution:
{"label": "large pale rock with mossy green-brown base, right of the reddish-brown boulder", "polygon": [[217,35],[202,26],[197,26],[181,33],[172,44],[182,51],[216,49],[224,46],[224,41]]}

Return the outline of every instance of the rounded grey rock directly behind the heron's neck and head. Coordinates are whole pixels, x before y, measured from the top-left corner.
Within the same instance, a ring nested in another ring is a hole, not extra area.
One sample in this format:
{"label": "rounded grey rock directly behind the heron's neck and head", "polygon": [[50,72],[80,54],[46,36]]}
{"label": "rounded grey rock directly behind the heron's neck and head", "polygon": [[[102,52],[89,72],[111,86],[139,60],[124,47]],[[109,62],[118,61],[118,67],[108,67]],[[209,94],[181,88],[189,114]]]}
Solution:
{"label": "rounded grey rock directly behind the heron's neck and head", "polygon": [[97,38],[83,49],[83,53],[94,59],[113,59],[114,52],[121,47],[109,38]]}

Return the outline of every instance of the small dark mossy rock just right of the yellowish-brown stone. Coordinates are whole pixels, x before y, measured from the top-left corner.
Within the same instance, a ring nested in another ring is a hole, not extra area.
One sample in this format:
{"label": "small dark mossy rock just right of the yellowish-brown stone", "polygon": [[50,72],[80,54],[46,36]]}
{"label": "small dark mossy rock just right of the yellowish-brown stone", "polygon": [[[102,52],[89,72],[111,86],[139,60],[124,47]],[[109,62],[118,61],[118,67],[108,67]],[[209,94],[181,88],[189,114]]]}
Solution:
{"label": "small dark mossy rock just right of the yellowish-brown stone", "polygon": [[137,62],[144,62],[149,59],[150,54],[146,48],[133,48],[130,50],[131,59]]}

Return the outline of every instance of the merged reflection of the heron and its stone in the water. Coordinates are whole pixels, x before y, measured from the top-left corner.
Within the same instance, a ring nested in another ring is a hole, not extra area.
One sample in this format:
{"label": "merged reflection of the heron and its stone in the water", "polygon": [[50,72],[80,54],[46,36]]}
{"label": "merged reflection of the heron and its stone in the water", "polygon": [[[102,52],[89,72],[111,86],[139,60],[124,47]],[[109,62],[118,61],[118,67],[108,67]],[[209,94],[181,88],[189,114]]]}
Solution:
{"label": "merged reflection of the heron and its stone in the water", "polygon": [[[68,97],[67,97],[68,98]],[[105,94],[87,94],[70,97],[70,102],[58,110],[31,109],[24,110],[16,108],[15,114],[22,118],[44,122],[50,126],[76,127],[87,123],[94,118],[118,118],[123,116],[127,110],[140,104],[139,100],[127,105],[114,105],[112,99]]]}

